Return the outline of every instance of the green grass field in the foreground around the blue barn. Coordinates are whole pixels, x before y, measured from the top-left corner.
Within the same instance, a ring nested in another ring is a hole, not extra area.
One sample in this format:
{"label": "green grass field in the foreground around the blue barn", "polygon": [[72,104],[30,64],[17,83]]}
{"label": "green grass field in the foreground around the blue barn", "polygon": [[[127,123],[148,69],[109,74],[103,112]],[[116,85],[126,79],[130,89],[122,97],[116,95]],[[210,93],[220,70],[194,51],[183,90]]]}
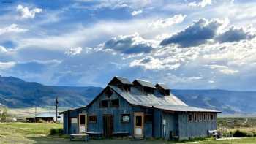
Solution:
{"label": "green grass field in the foreground around the blue barn", "polygon": [[[66,137],[59,136],[49,136],[51,128],[61,128],[61,124],[33,124],[33,123],[0,123],[0,143],[10,143],[10,144],[67,144],[74,143],[80,144],[84,142],[70,142]],[[128,140],[128,139],[113,139],[113,140],[90,140],[89,143],[95,144],[112,144],[112,143],[122,143],[122,144],[168,144],[174,143],[164,140]],[[195,143],[195,142],[187,142]],[[237,140],[209,140],[197,142],[199,144],[225,144],[225,143],[245,143],[245,144],[255,144],[256,137],[246,137]]]}

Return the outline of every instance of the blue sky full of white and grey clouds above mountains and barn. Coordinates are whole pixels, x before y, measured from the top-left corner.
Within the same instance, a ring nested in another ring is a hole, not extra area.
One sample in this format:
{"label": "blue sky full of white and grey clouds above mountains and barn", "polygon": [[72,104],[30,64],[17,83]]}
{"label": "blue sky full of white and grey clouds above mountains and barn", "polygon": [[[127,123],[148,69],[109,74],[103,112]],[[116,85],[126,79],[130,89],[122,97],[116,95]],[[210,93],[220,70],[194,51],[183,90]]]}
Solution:
{"label": "blue sky full of white and grey clouds above mountains and barn", "polygon": [[1,0],[0,75],[254,91],[255,10],[253,0]]}

